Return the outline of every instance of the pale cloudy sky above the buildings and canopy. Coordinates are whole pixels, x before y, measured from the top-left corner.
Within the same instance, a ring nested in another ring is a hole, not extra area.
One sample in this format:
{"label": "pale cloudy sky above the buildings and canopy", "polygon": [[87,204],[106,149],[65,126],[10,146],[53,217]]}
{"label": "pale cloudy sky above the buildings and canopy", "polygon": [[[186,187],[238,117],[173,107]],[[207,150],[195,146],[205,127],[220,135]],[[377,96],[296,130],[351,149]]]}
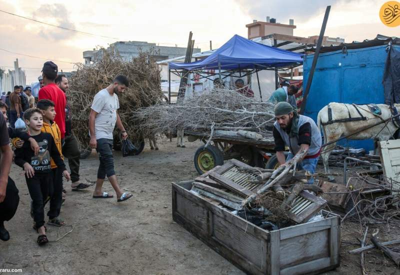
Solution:
{"label": "pale cloudy sky above the buildings and canopy", "polygon": [[[37,79],[46,60],[71,71],[82,52],[116,40],[185,46],[189,31],[195,47],[216,48],[234,34],[247,37],[246,24],[266,16],[287,24],[294,19],[296,36],[318,35],[326,5],[331,10],[325,35],[346,42],[372,39],[377,33],[399,36],[400,26],[379,20],[381,0],[0,0],[0,9],[25,17],[102,36],[83,35],[0,12],[0,67],[12,69],[18,58],[26,82]],[[113,38],[111,38],[113,37]],[[12,51],[10,53],[2,49]],[[34,58],[26,55],[43,57]]]}

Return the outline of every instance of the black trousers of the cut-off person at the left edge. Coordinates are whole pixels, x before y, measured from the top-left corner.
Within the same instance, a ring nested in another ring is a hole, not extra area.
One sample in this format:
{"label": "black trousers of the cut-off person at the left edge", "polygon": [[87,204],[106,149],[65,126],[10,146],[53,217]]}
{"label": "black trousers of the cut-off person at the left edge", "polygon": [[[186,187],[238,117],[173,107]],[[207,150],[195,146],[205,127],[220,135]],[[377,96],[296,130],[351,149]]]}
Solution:
{"label": "black trousers of the cut-off person at the left edge", "polygon": [[5,220],[10,220],[18,208],[19,195],[18,189],[15,186],[14,181],[8,177],[7,187],[5,189],[5,198],[0,203],[0,225]]}

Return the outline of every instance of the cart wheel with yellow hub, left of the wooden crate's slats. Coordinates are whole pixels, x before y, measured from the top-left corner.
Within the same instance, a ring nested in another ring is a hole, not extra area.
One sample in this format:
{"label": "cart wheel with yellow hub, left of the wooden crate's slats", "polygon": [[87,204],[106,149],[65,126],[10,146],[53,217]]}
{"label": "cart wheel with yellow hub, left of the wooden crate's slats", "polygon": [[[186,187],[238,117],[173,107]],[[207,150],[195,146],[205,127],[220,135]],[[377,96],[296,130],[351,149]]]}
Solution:
{"label": "cart wheel with yellow hub, left of the wooden crate's slats", "polygon": [[213,145],[208,145],[206,148],[201,146],[194,153],[194,167],[199,174],[205,173],[213,167],[222,164],[222,152]]}

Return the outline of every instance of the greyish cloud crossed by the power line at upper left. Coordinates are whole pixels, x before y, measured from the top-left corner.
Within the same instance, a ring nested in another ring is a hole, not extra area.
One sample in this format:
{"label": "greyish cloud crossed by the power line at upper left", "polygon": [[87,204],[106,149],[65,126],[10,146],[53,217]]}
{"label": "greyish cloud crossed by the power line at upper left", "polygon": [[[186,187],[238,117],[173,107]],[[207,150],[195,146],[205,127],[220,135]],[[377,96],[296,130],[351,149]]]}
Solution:
{"label": "greyish cloud crossed by the power line at upper left", "polygon": [[[69,19],[68,10],[66,9],[65,5],[61,3],[40,5],[39,8],[32,13],[32,17],[35,20],[44,21],[65,28],[75,29],[75,24]],[[72,31],[44,24],[38,26],[38,28],[38,34],[46,39],[51,38],[53,40],[64,40],[75,35],[75,33]]]}

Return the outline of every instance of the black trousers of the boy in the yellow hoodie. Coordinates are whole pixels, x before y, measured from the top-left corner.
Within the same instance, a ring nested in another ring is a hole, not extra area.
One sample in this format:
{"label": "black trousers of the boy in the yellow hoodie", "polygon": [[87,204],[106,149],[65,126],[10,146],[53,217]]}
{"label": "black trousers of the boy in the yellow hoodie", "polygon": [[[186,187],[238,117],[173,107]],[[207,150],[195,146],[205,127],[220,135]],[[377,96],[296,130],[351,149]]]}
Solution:
{"label": "black trousers of the boy in the yellow hoodie", "polygon": [[51,179],[49,182],[50,207],[47,212],[49,219],[57,217],[61,211],[62,204],[62,170],[59,168],[51,169]]}

